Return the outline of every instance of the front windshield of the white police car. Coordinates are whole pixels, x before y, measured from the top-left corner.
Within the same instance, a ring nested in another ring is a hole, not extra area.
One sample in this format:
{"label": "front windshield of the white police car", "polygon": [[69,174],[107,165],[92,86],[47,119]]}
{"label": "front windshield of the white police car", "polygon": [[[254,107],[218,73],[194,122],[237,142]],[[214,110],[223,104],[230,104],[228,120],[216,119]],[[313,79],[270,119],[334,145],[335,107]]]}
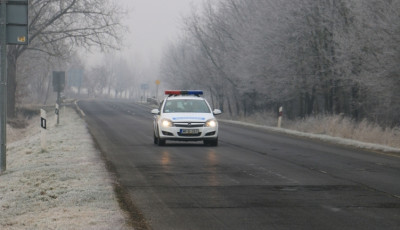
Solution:
{"label": "front windshield of the white police car", "polygon": [[210,113],[210,108],[204,100],[168,100],[164,113]]}

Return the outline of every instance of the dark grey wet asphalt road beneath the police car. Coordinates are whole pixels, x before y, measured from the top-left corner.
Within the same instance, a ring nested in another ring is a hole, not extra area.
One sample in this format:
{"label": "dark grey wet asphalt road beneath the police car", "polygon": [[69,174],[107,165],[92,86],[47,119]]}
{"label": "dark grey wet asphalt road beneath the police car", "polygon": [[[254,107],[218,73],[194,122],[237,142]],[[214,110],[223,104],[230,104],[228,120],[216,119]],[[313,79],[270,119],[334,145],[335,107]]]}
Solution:
{"label": "dark grey wet asphalt road beneath the police car", "polygon": [[223,122],[218,147],[159,147],[146,106],[79,106],[151,229],[400,229],[399,156]]}

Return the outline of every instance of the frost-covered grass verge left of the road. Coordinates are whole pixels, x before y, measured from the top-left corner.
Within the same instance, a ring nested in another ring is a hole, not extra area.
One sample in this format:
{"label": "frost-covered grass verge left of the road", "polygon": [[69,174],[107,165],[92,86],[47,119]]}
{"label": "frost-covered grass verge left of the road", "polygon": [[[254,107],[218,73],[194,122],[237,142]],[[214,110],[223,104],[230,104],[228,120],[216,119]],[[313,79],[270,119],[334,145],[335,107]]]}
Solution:
{"label": "frost-covered grass verge left of the road", "polygon": [[39,117],[24,130],[8,128],[0,229],[128,229],[85,122],[70,108],[61,112],[59,126],[48,119],[47,151]]}

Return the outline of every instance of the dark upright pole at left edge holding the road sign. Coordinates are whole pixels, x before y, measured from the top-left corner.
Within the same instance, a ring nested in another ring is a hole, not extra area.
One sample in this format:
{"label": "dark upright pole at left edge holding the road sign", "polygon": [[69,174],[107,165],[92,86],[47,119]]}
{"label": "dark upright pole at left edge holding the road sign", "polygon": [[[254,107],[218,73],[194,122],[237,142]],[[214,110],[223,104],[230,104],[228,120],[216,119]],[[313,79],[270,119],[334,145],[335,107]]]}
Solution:
{"label": "dark upright pole at left edge holding the road sign", "polygon": [[0,80],[0,173],[6,171],[7,158],[7,6],[6,0],[1,0],[1,80]]}

